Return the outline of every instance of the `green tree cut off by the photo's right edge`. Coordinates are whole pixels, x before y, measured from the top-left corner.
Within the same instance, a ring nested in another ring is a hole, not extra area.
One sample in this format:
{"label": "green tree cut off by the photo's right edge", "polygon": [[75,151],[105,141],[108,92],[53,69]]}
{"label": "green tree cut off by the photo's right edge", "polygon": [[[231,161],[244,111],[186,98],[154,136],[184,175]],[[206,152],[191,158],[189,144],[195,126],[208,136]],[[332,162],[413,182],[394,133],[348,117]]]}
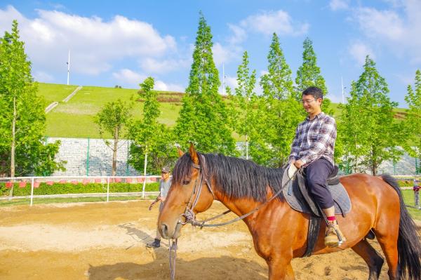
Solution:
{"label": "green tree cut off by the photo's right edge", "polygon": [[[408,86],[408,93],[405,96],[408,103],[408,111],[403,121],[403,127],[406,131],[406,141],[403,147],[406,152],[417,159],[421,159],[421,71],[417,69],[415,72],[414,88]],[[421,164],[420,164],[421,165]],[[417,166],[421,173],[421,166]]]}

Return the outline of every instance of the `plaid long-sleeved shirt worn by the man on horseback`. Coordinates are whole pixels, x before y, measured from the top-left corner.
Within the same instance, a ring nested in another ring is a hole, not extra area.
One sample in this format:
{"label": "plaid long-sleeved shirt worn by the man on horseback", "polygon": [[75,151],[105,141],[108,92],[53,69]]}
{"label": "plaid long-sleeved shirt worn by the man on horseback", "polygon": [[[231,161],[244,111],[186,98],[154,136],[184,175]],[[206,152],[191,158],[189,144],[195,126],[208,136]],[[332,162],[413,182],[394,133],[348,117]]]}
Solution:
{"label": "plaid long-sleeved shirt worn by the man on horseback", "polygon": [[312,120],[307,117],[295,131],[289,161],[301,159],[304,166],[307,166],[323,157],[335,165],[333,161],[335,140],[336,122],[333,117],[323,112]]}

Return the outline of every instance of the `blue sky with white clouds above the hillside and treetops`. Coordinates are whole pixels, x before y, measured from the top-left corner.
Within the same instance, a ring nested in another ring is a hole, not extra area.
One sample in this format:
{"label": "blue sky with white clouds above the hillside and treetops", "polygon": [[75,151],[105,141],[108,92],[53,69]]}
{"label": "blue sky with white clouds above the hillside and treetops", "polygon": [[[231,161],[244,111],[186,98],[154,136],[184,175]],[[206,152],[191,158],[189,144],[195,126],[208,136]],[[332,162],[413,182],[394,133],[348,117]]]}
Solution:
{"label": "blue sky with white clouds above the hillside and treetops", "polygon": [[[192,64],[199,11],[213,33],[215,63],[225,65],[235,86],[243,51],[258,76],[276,32],[288,65],[302,63],[302,41],[312,39],[328,96],[342,100],[370,55],[389,84],[390,97],[404,96],[421,69],[421,1],[4,1],[0,32],[17,19],[37,81],[138,88],[147,76],[156,89],[184,91]],[[256,86],[256,91],[261,91]]]}

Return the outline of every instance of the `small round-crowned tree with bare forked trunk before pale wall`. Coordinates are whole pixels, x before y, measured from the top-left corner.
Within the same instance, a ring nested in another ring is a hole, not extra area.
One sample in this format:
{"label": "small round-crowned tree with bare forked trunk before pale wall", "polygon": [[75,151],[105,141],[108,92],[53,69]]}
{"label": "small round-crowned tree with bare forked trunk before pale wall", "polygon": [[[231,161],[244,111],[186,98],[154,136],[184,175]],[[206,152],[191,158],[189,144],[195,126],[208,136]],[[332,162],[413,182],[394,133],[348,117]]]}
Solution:
{"label": "small round-crowned tree with bare forked trunk before pale wall", "polygon": [[[98,124],[101,137],[104,138],[107,147],[112,149],[112,176],[116,175],[119,141],[123,129],[131,121],[131,108],[131,103],[126,104],[119,99],[108,102],[95,116],[95,124]],[[112,144],[106,139],[106,133],[112,135]]]}

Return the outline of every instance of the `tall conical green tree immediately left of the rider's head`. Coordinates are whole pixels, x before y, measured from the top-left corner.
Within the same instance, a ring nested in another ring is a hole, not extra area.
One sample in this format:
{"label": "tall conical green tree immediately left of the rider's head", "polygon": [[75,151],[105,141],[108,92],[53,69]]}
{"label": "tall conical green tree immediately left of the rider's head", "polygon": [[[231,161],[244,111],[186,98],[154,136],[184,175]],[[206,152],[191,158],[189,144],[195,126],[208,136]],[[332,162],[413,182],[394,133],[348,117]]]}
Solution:
{"label": "tall conical green tree immediately left of the rider's head", "polygon": [[290,145],[303,110],[293,95],[291,70],[281,49],[279,38],[272,36],[267,55],[267,74],[260,79],[263,94],[255,110],[255,141],[250,142],[253,160],[265,166],[279,167],[288,160]]}

